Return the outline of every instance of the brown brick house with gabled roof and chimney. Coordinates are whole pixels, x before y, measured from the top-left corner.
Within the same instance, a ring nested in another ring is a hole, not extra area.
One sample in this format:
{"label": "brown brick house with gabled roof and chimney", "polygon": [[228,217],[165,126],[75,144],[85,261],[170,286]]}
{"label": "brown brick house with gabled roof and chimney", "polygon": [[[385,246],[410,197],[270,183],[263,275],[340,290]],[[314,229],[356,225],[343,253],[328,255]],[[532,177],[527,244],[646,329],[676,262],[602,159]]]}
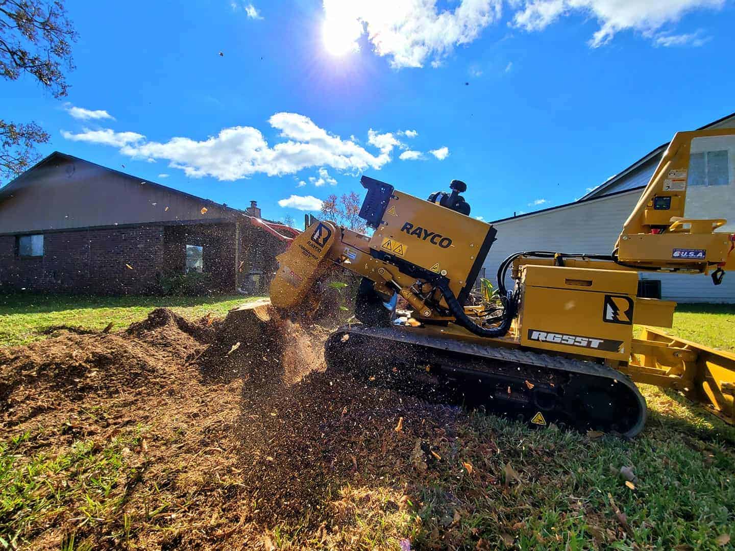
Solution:
{"label": "brown brick house with gabled roof and chimney", "polygon": [[0,292],[153,293],[192,270],[262,292],[294,230],[259,218],[54,152],[0,188]]}

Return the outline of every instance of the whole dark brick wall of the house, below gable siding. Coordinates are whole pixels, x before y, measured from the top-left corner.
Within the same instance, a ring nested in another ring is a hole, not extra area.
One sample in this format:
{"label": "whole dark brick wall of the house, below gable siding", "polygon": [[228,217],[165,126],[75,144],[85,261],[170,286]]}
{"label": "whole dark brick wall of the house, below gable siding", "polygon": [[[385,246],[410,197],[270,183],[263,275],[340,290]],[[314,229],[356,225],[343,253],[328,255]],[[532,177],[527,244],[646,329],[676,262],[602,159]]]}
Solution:
{"label": "whole dark brick wall of the house, below gable siding", "polygon": [[[232,223],[221,223],[49,231],[43,237],[43,256],[31,258],[18,256],[14,235],[0,235],[0,293],[19,289],[101,295],[158,292],[159,275],[184,273],[186,245],[203,248],[204,271],[212,275],[213,290],[232,292],[234,228]],[[265,231],[240,225],[239,283],[250,271],[262,272],[256,290],[265,292],[276,271],[276,254],[284,248]]]}

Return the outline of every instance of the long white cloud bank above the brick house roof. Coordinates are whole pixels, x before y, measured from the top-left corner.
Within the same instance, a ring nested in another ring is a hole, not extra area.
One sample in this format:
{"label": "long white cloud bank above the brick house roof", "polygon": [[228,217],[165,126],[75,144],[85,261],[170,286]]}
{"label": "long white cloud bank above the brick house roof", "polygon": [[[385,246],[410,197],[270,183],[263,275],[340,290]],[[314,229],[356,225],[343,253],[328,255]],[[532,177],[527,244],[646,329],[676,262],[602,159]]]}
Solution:
{"label": "long white cloud bank above the brick house roof", "polygon": [[146,141],[143,134],[111,129],[85,129],[80,134],[62,132],[62,135],[67,140],[118,146],[121,154],[135,159],[166,160],[169,167],[184,170],[191,178],[212,176],[225,181],[256,173],[295,174],[315,167],[331,167],[349,173],[368,168],[380,170],[390,162],[395,145],[400,145],[392,134],[370,130],[368,142],[380,150],[379,154],[373,154],[351,140],[330,134],[298,113],[276,113],[268,122],[282,138],[272,146],[262,132],[252,126],[222,129],[206,140],[172,137],[164,142]]}

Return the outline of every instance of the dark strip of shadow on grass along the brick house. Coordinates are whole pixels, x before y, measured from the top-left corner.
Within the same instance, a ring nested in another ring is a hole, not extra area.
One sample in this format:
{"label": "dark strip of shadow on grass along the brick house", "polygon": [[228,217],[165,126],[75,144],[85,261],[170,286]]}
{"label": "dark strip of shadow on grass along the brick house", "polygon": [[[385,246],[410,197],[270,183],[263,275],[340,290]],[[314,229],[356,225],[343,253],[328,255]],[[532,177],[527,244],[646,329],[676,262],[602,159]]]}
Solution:
{"label": "dark strip of shadow on grass along the brick house", "polygon": [[101,308],[171,308],[176,306],[204,306],[226,300],[256,297],[247,295],[205,295],[195,297],[166,297],[155,295],[102,296],[102,295],[40,295],[13,293],[0,295],[0,315],[40,314],[54,311]]}

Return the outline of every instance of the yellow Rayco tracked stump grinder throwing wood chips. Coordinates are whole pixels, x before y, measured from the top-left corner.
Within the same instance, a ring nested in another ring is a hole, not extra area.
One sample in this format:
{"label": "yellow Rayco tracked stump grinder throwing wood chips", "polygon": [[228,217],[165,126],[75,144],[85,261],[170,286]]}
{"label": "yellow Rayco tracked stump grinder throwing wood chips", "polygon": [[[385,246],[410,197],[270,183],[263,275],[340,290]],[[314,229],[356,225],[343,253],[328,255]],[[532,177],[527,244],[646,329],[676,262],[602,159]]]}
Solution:
{"label": "yellow Rayco tracked stump grinder throwing wood chips", "polygon": [[[362,276],[360,323],[329,337],[328,370],[453,395],[533,425],[628,437],[646,418],[635,383],[648,383],[733,423],[735,355],[651,328],[671,327],[675,303],[637,293],[639,272],[708,274],[720,284],[735,268],[735,234],[717,231],[726,220],[684,213],[687,187],[722,183],[706,177],[711,151],[727,151],[722,192],[732,194],[735,129],[680,132],[612,253],[514,253],[498,266],[489,300],[470,300],[470,292],[496,230],[469,216],[462,181],[427,201],[363,176],[359,216],[373,233],[316,220],[289,238],[270,285],[272,308],[285,317],[313,309],[316,283],[338,266]],[[406,323],[395,320],[397,296],[412,310]],[[637,336],[634,324],[643,325]]]}

